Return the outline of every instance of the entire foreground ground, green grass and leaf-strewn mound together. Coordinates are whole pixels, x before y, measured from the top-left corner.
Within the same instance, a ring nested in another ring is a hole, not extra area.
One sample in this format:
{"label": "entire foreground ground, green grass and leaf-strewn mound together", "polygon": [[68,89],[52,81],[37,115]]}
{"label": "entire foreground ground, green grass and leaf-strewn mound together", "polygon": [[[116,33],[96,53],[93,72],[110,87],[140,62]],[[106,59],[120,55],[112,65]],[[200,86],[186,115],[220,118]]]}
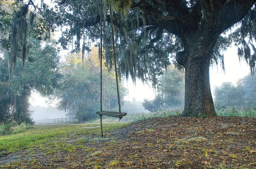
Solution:
{"label": "entire foreground ground, green grass and leaf-strewn mound together", "polygon": [[[35,126],[0,137],[0,153],[16,152],[0,155],[0,168],[250,168],[256,166],[253,122],[251,118],[175,116],[106,132],[125,124],[104,121],[105,138],[96,127],[99,123]],[[170,123],[175,124],[171,130]],[[244,135],[233,134],[241,132]]]}

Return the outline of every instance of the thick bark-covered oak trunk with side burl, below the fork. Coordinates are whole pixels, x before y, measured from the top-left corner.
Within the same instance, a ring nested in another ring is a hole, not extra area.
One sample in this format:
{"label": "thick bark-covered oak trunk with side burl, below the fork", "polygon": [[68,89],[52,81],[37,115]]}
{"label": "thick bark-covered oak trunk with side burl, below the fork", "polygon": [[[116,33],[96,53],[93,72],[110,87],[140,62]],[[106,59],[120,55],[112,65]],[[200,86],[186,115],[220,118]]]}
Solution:
{"label": "thick bark-covered oak trunk with side burl, below the fork", "polygon": [[185,68],[185,105],[182,116],[217,116],[215,113],[209,81],[209,65],[218,35],[201,29],[184,34],[181,39],[184,51],[176,55],[178,63]]}

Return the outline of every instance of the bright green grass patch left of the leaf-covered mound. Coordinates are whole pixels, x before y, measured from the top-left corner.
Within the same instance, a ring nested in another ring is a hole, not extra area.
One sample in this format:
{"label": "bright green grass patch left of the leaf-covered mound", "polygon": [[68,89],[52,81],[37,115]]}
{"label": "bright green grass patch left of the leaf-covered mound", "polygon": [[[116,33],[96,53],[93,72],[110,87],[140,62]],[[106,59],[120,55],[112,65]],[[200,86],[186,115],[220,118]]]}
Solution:
{"label": "bright green grass patch left of the leaf-covered mound", "polygon": [[[85,140],[81,135],[99,134],[100,127],[93,127],[99,124],[65,124],[65,125],[39,125],[25,132],[14,135],[0,136],[0,154],[17,152],[22,149],[38,148],[45,152],[54,152],[58,149],[73,152],[76,148],[82,147]],[[113,130],[125,125],[124,123],[105,123],[104,131]],[[80,139],[79,139],[80,138]],[[77,139],[74,143],[67,140]]]}

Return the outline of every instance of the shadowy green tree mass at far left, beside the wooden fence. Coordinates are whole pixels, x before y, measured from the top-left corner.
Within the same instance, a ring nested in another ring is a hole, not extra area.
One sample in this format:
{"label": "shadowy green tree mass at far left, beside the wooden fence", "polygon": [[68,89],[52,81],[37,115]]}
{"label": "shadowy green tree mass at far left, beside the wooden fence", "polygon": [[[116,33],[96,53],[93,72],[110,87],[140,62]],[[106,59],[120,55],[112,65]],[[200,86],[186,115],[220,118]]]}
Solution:
{"label": "shadowy green tree mass at far left, beside the wooden fence", "polygon": [[[53,43],[53,44],[52,44]],[[47,42],[41,48],[40,42],[30,39],[29,57],[25,62],[17,58],[9,84],[9,58],[0,57],[0,121],[14,119],[31,123],[29,97],[32,90],[49,96],[58,87],[61,74],[58,73],[58,55],[55,42]],[[8,53],[7,53],[8,54]],[[23,66],[24,64],[24,66]]]}

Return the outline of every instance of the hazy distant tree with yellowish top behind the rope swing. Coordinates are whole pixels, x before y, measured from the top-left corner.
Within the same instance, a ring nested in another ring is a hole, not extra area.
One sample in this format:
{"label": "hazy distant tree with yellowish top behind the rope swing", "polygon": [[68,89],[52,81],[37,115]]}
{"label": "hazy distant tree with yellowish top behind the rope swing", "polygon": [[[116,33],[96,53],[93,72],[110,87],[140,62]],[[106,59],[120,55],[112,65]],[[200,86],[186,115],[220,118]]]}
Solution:
{"label": "hazy distant tree with yellowish top behind the rope swing", "polygon": [[[83,66],[82,66],[83,65]],[[84,68],[84,69],[83,69]],[[64,109],[68,115],[76,115],[81,121],[88,121],[98,117],[96,111],[100,110],[100,65],[98,48],[92,48],[88,56],[82,54],[69,54],[66,62],[61,65],[64,78],[60,88],[55,92],[55,97],[60,101],[59,108]],[[103,65],[103,109],[116,110],[117,96],[116,83],[113,71]],[[120,85],[121,103],[126,89]]]}

